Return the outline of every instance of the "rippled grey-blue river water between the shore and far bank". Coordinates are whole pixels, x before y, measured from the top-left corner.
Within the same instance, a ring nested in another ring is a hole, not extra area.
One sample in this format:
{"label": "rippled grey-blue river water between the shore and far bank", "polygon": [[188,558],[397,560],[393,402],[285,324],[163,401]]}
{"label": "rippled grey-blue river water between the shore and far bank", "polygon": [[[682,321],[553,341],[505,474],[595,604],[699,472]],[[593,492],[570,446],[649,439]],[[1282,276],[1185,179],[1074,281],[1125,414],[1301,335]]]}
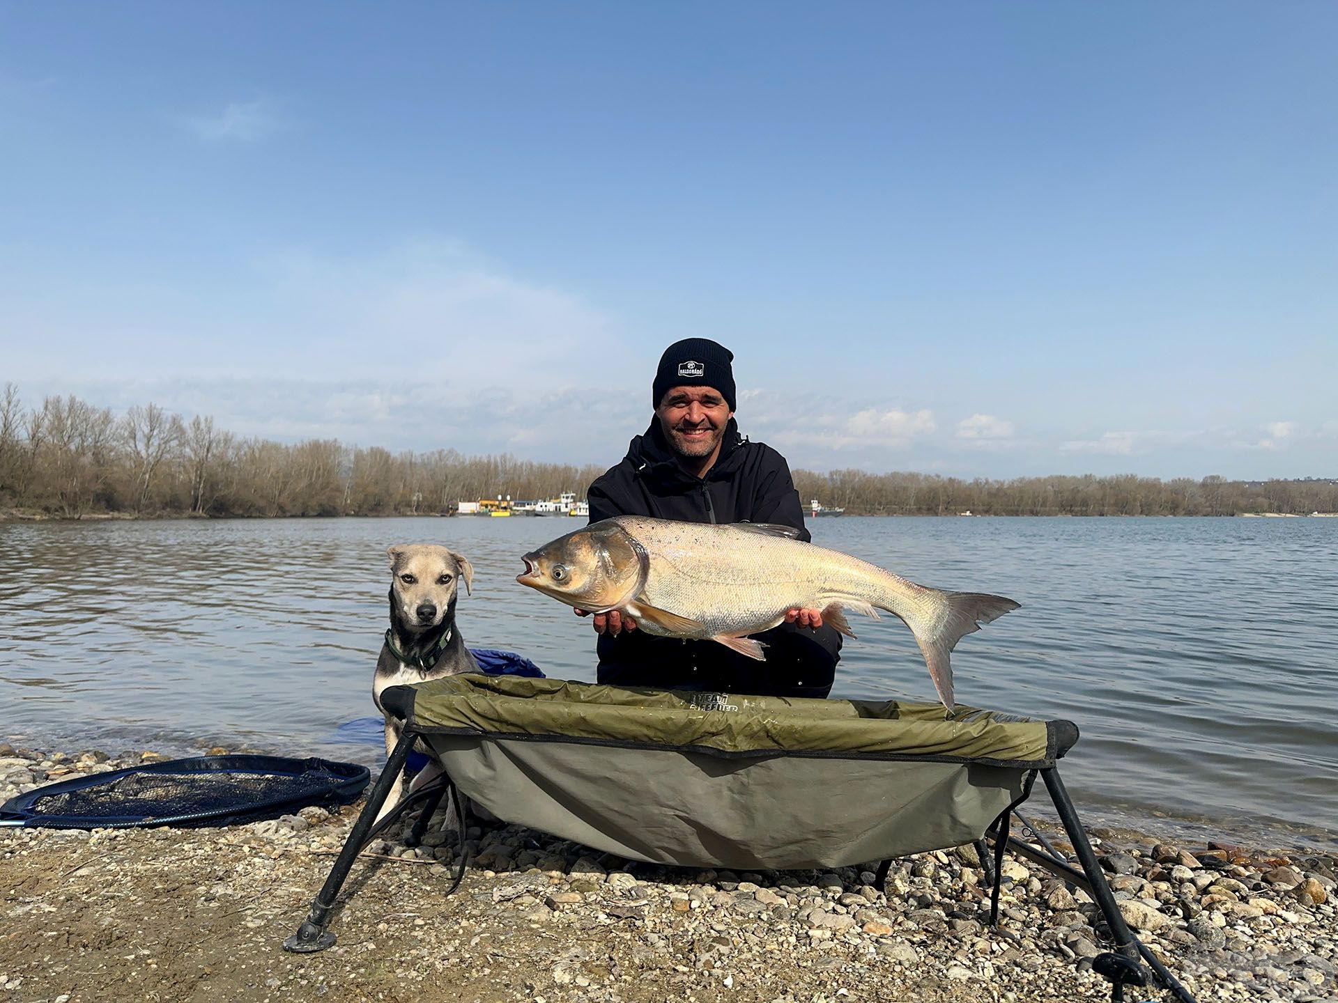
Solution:
{"label": "rippled grey-blue river water between the shore and far bank", "polygon": [[[475,567],[471,647],[594,679],[589,621],[516,584],[567,519],[0,526],[0,734],[35,748],[213,745],[375,765],[385,547]],[[959,702],[1068,718],[1089,822],[1338,847],[1338,519],[815,519],[815,543],[1022,608],[953,655]],[[910,631],[855,615],[834,697],[934,699]],[[1040,798],[1038,798],[1040,800]]]}

